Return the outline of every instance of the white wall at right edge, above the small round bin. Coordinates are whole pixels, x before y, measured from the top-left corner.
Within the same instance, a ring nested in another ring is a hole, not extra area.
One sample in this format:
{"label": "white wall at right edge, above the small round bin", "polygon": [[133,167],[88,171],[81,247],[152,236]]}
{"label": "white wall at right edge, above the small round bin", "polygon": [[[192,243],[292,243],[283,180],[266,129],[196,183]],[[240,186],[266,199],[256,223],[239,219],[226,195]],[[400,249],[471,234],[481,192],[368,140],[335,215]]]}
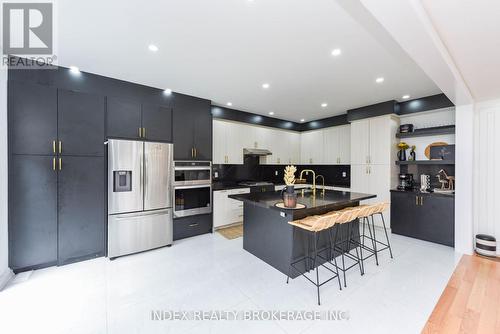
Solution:
{"label": "white wall at right edge, above the small round bin", "polygon": [[474,233],[495,236],[500,256],[500,100],[476,104],[475,111]]}

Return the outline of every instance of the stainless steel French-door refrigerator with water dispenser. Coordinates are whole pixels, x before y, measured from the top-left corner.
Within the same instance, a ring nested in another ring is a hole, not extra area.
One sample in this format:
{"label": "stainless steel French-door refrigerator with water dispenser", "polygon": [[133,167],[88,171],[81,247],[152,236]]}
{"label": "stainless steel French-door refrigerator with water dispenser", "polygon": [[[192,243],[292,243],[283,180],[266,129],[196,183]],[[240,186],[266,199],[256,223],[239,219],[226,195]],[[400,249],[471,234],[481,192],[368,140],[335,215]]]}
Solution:
{"label": "stainless steel French-door refrigerator with water dispenser", "polygon": [[108,141],[108,257],[172,244],[173,145]]}

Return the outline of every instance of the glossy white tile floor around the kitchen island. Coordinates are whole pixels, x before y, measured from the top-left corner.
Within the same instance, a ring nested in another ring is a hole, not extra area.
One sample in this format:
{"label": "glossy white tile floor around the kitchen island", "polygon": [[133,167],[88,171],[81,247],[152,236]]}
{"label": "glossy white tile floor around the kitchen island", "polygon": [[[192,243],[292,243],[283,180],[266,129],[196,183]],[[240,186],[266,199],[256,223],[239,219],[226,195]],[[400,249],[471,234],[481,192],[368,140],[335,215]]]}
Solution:
{"label": "glossy white tile floor around the kitchen island", "polygon": [[[198,236],[147,253],[37,270],[0,292],[2,333],[420,333],[459,255],[394,235],[394,260],[352,270],[347,288],[321,290],[242,249],[242,239]],[[342,321],[152,321],[152,310],[347,311]]]}

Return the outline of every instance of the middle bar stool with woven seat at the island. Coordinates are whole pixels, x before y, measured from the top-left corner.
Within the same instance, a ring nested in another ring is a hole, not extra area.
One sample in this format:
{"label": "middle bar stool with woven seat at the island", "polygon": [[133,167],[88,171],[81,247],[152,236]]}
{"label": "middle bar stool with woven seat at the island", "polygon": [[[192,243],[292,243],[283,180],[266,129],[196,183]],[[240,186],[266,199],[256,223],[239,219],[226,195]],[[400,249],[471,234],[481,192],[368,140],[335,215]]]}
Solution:
{"label": "middle bar stool with woven seat at the island", "polygon": [[[342,259],[342,267],[341,268],[339,267],[337,269],[341,270],[342,273],[344,274],[344,287],[347,287],[346,272],[349,269],[355,266],[359,266],[359,271],[361,273],[361,276],[364,275],[364,269],[361,263],[361,258],[358,253],[359,243],[354,242],[356,235],[353,234],[355,229],[352,228],[352,223],[356,221],[360,211],[361,209],[358,207],[350,207],[337,211],[340,214],[340,216],[337,218],[337,223],[336,223],[337,229],[335,231],[335,237],[333,239],[333,258],[335,259],[336,257],[335,251],[340,253]],[[347,229],[346,237],[339,240],[339,234],[341,233],[341,229],[343,227],[344,229]],[[357,237],[359,238],[360,237],[359,229],[357,230],[358,230]],[[356,251],[356,255],[351,254],[352,243],[356,245],[356,247],[354,248]],[[347,268],[345,266],[345,257],[354,261],[354,263]]]}

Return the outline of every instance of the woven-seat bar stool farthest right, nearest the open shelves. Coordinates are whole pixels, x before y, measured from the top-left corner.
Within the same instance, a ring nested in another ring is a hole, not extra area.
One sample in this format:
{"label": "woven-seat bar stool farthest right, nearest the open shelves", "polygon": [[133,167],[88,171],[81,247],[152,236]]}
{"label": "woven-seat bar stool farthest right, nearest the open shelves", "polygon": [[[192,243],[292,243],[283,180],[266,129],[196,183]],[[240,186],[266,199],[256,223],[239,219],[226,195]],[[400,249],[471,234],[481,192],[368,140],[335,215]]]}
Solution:
{"label": "woven-seat bar stool farthest right, nearest the open shelves", "polygon": [[[389,203],[377,203],[377,204],[373,204],[373,205],[368,205],[368,206],[366,206],[366,208],[367,208],[366,212],[364,212],[363,217],[361,217],[361,218],[363,218],[363,222],[362,222],[363,232],[361,235],[362,248],[371,252],[372,255],[375,255],[375,262],[376,262],[377,266],[379,265],[378,253],[380,253],[381,251],[389,249],[391,259],[393,259],[392,248],[391,248],[391,244],[389,242],[389,235],[387,234],[387,227],[385,225],[385,219],[384,219],[384,214],[383,214],[383,212],[385,210],[387,210],[388,207],[389,207]],[[385,240],[387,243],[383,243],[382,241],[377,240],[376,229],[375,229],[375,219],[374,219],[375,215],[380,215],[380,217],[382,218],[382,226],[384,228]],[[370,218],[371,218],[371,226],[370,226]],[[370,234],[369,236],[365,234],[365,225],[368,226],[368,231]],[[365,245],[365,238],[369,239],[371,241],[371,244],[372,244],[371,249]],[[378,244],[382,245],[383,247],[378,248]],[[372,255],[370,255],[370,256],[372,256]],[[370,256],[363,258],[363,261],[366,260],[367,258],[369,258]]]}

